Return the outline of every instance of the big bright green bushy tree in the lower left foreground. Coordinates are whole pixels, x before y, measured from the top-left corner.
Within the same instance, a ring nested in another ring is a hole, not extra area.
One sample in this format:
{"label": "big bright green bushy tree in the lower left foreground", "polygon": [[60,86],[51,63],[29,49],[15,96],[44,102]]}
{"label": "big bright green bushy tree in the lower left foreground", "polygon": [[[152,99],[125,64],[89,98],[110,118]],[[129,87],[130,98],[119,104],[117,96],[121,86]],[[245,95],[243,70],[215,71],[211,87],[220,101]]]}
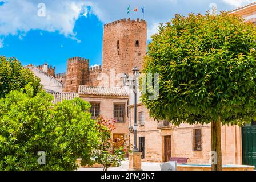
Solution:
{"label": "big bright green bushy tree in the lower left foreground", "polygon": [[[46,92],[34,96],[30,85],[0,99],[0,171],[74,170],[78,158],[93,164],[99,130],[90,104],[76,98],[53,105],[52,99]],[[39,151],[45,165],[38,163]]]}

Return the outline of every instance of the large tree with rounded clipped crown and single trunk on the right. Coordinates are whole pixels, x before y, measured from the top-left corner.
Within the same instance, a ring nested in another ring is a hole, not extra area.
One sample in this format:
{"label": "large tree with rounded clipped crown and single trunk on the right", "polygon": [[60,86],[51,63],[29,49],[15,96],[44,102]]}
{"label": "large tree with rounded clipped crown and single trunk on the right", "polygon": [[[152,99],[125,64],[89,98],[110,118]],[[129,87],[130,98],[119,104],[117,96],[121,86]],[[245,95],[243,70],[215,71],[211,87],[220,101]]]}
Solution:
{"label": "large tree with rounded clipped crown and single trunk on the right", "polygon": [[235,15],[175,15],[149,44],[144,73],[159,73],[159,97],[143,104],[175,125],[211,123],[212,170],[222,169],[221,123],[256,119],[256,27]]}

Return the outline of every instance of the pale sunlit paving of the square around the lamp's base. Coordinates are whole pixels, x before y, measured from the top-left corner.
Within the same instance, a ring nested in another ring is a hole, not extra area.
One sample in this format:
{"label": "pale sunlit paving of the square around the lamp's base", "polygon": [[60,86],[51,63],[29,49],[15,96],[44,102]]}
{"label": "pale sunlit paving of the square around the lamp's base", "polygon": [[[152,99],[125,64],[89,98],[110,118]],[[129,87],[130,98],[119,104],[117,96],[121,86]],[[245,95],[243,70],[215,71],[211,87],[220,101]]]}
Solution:
{"label": "pale sunlit paving of the square around the lamp's base", "polygon": [[[129,160],[121,162],[120,167],[110,167],[108,171],[127,171],[129,168]],[[142,162],[143,171],[160,171],[161,163]],[[103,171],[103,168],[79,168],[78,171]]]}

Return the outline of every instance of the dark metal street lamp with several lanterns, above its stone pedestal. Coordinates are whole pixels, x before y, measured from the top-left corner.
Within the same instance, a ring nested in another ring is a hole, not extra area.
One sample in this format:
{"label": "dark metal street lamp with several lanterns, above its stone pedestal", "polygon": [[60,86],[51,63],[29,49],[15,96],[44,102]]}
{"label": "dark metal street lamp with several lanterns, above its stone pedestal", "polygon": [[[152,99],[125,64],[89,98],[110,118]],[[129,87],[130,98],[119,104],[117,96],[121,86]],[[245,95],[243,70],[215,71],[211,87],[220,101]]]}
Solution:
{"label": "dark metal street lamp with several lanterns, above its stone pedestal", "polygon": [[[134,77],[128,77],[128,75],[125,73],[123,75],[123,84],[126,85],[128,82],[130,88],[133,88],[133,93],[134,93],[134,145],[133,145],[133,152],[138,152],[137,148],[137,93],[138,93],[138,85],[137,85],[137,78],[139,77],[139,69],[137,67],[133,68],[133,75]],[[129,127],[131,131],[131,127]]]}

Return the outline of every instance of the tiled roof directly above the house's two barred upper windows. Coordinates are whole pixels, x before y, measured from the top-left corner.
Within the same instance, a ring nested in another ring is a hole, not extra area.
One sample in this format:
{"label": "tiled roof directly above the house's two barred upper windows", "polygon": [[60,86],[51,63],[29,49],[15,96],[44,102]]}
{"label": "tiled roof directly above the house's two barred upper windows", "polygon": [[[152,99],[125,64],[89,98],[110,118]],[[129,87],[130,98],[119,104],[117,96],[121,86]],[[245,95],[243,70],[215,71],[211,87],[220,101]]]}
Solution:
{"label": "tiled roof directly above the house's two barred upper windows", "polygon": [[125,89],[121,87],[103,87],[103,86],[79,86],[79,94],[93,96],[128,96]]}

